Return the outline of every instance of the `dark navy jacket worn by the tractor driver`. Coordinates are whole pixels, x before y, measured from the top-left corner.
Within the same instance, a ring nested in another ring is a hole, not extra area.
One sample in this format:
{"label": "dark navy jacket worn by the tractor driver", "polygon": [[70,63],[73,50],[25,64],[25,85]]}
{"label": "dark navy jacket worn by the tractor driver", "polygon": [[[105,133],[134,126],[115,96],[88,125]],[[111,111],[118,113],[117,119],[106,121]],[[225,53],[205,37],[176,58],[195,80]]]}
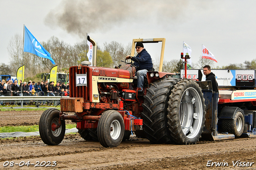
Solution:
{"label": "dark navy jacket worn by the tractor driver", "polygon": [[[139,63],[136,59],[138,59],[138,61],[140,62],[140,67],[138,67]],[[150,71],[152,69],[153,67],[152,59],[149,53],[146,51],[146,49],[142,49],[142,51],[138,55],[136,55],[136,59],[132,57],[132,61],[134,61],[134,65],[138,67],[136,71],[143,70],[143,69],[147,69],[148,71]]]}

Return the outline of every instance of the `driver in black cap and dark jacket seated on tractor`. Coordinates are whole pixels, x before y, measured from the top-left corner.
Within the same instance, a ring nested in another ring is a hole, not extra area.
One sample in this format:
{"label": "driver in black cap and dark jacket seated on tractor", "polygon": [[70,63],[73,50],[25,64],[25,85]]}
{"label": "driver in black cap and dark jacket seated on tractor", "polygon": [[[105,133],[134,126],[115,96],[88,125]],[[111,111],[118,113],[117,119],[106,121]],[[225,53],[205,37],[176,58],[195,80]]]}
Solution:
{"label": "driver in black cap and dark jacket seated on tractor", "polygon": [[147,71],[151,71],[153,64],[152,59],[146,49],[144,49],[144,45],[142,42],[137,42],[135,48],[138,53],[138,55],[136,55],[136,59],[134,59],[135,57],[131,57],[130,55],[127,55],[126,59],[132,59],[132,61],[134,61],[134,65],[137,67],[139,66],[138,61],[140,62],[140,67],[136,68],[136,72],[138,80],[137,87],[140,88],[138,92],[142,93],[144,77],[147,76]]}

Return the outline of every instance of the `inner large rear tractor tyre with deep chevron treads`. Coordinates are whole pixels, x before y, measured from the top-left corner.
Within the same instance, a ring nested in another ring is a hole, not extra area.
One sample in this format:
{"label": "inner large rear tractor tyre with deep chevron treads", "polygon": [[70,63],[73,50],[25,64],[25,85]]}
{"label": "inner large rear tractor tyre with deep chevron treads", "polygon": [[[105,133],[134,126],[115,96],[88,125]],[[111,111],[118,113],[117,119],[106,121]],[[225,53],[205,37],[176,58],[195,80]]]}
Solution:
{"label": "inner large rear tractor tyre with deep chevron treads", "polygon": [[[143,130],[152,144],[170,143],[171,137],[167,127],[167,107],[173,86],[178,78],[161,78],[146,89],[143,106]],[[136,131],[135,131],[136,133]]]}

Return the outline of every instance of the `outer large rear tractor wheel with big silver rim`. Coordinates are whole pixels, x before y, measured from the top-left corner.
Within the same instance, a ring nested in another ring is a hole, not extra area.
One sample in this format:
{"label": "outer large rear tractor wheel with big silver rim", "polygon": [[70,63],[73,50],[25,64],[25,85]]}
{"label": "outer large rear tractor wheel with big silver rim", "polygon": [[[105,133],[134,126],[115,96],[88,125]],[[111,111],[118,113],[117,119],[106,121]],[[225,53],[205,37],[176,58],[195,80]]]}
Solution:
{"label": "outer large rear tractor wheel with big silver rim", "polygon": [[174,85],[168,101],[168,127],[177,144],[195,144],[204,128],[205,104],[199,85],[185,79]]}

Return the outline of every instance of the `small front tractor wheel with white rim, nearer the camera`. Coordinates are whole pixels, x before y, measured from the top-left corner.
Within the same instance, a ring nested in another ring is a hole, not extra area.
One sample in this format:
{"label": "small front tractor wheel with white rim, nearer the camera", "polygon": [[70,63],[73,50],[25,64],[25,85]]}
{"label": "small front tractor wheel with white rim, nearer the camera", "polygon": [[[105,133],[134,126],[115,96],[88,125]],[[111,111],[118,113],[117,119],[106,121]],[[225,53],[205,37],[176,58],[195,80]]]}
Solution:
{"label": "small front tractor wheel with white rim, nearer the camera", "polygon": [[102,146],[117,147],[124,136],[124,119],[118,111],[102,113],[98,123],[98,139]]}

